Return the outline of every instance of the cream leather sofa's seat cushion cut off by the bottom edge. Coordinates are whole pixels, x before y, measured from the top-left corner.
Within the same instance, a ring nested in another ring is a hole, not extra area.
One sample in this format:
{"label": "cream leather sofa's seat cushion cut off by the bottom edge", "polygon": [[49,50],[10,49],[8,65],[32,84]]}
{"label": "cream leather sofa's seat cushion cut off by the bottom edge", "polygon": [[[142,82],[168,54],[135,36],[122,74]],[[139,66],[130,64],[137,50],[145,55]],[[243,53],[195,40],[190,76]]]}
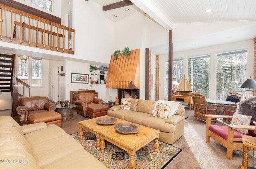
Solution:
{"label": "cream leather sofa's seat cushion cut off by the bottom edge", "polygon": [[51,163],[41,166],[42,169],[107,169],[107,167],[84,149],[79,149]]}

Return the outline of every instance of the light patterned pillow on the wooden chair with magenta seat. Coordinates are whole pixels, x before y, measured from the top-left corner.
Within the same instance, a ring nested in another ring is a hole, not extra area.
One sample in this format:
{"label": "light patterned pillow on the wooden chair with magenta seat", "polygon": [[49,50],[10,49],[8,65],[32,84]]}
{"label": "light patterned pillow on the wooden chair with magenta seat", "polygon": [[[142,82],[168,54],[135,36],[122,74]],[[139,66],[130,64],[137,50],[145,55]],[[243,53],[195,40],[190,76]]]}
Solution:
{"label": "light patterned pillow on the wooden chair with magenta seat", "polygon": [[[251,120],[252,120],[252,116],[246,116],[246,115],[234,113],[233,118],[231,120],[231,124],[249,126]],[[236,129],[236,131],[244,133],[244,134],[248,134],[248,130]]]}

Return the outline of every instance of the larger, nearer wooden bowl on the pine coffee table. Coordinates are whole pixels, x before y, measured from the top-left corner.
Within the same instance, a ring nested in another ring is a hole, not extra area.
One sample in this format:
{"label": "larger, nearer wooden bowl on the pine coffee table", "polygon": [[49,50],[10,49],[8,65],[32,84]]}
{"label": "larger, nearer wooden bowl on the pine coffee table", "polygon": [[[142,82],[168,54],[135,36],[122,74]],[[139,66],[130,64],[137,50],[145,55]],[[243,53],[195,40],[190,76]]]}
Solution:
{"label": "larger, nearer wooden bowl on the pine coffee table", "polygon": [[133,124],[122,124],[122,123],[116,124],[115,130],[120,134],[136,134],[139,132],[138,126],[135,126]]}

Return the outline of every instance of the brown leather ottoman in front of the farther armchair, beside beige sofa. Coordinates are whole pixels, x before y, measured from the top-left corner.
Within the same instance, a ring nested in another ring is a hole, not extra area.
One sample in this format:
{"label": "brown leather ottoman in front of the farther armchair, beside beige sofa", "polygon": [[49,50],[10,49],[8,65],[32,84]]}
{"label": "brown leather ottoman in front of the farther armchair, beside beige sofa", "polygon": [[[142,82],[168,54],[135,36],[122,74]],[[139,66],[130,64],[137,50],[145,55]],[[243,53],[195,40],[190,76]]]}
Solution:
{"label": "brown leather ottoman in front of the farther armchair, beside beige sofa", "polygon": [[108,106],[104,106],[102,104],[87,106],[86,108],[86,116],[89,116],[90,118],[105,116],[107,114]]}

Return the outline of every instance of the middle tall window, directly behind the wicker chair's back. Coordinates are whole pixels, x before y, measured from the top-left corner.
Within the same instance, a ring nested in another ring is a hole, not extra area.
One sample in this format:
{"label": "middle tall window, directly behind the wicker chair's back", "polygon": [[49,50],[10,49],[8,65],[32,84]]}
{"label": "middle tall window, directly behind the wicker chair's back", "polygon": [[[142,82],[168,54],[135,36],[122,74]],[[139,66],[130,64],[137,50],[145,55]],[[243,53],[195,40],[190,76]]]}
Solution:
{"label": "middle tall window, directly behind the wicker chair's back", "polygon": [[202,92],[209,98],[210,55],[188,57],[188,82],[193,91]]}

